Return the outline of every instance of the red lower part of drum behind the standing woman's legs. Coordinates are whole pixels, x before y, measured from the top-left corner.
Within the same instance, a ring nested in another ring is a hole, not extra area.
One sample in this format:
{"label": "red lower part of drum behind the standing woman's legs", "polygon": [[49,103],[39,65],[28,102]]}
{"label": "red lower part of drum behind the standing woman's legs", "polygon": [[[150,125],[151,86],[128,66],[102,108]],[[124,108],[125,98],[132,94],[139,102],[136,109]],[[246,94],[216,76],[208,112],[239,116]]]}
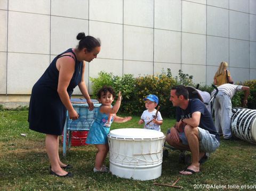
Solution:
{"label": "red lower part of drum behind the standing woman's legs", "polygon": [[[72,131],[71,134],[71,146],[82,146],[82,145],[88,145],[85,143],[87,135],[89,131]],[[63,144],[63,133],[61,136],[61,142]],[[66,144],[68,145],[68,133],[67,133],[67,142]]]}

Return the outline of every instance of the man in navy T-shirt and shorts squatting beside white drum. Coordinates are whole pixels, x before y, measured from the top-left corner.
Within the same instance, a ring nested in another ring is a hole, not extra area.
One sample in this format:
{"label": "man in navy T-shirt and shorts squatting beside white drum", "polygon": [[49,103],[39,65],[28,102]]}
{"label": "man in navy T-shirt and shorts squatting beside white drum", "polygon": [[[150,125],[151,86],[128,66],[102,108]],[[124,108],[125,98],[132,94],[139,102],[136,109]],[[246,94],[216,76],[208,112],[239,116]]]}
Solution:
{"label": "man in navy T-shirt and shorts squatting beside white drum", "polygon": [[167,134],[166,141],[169,145],[192,154],[192,163],[187,169],[180,171],[182,175],[200,173],[199,166],[220,145],[211,114],[199,99],[189,99],[188,90],[182,85],[172,87],[170,101],[173,106],[177,106],[177,122],[170,134]]}

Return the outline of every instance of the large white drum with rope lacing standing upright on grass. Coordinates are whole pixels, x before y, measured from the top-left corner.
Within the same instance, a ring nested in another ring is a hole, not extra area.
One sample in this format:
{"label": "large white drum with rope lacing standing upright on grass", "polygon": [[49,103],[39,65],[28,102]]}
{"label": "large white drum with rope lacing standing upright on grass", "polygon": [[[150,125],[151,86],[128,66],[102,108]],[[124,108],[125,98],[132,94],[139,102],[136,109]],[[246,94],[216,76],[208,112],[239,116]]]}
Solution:
{"label": "large white drum with rope lacing standing upright on grass", "polygon": [[108,134],[109,168],[113,175],[151,180],[162,173],[165,135],[149,129],[115,129]]}

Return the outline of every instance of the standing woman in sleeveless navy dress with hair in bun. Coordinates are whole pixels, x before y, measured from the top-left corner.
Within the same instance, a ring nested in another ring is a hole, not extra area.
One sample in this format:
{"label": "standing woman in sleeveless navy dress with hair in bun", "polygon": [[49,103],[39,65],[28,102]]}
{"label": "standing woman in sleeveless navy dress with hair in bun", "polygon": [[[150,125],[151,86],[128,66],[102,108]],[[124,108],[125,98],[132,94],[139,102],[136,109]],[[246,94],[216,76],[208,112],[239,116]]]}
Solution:
{"label": "standing woman in sleeveless navy dress with hair in bun", "polygon": [[51,163],[50,173],[59,177],[73,176],[64,170],[73,167],[60,161],[59,135],[65,126],[67,111],[70,119],[78,119],[78,114],[70,102],[77,85],[89,105],[89,110],[94,108],[85,85],[84,71],[85,61],[91,62],[99,54],[100,40],[85,36],[84,32],[77,35],[77,40],[78,46],[56,56],[36,82],[29,104],[29,128],[46,135],[45,146]]}

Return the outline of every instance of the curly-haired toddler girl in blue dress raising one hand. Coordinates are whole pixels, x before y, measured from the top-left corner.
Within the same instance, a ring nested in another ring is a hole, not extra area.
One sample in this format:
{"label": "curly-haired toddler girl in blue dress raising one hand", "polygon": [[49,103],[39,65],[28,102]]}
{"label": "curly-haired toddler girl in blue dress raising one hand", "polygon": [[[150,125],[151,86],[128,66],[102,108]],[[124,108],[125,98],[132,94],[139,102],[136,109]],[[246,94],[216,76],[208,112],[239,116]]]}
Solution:
{"label": "curly-haired toddler girl in blue dress raising one hand", "polygon": [[109,168],[103,165],[103,162],[105,161],[109,151],[107,135],[110,130],[111,123],[113,121],[123,123],[132,119],[132,117],[121,118],[116,116],[121,105],[121,92],[118,94],[115,105],[112,106],[111,103],[114,101],[115,96],[115,90],[109,86],[103,86],[97,93],[97,97],[101,105],[98,110],[97,118],[90,128],[85,142],[87,144],[94,144],[98,148],[93,172],[109,171]]}

